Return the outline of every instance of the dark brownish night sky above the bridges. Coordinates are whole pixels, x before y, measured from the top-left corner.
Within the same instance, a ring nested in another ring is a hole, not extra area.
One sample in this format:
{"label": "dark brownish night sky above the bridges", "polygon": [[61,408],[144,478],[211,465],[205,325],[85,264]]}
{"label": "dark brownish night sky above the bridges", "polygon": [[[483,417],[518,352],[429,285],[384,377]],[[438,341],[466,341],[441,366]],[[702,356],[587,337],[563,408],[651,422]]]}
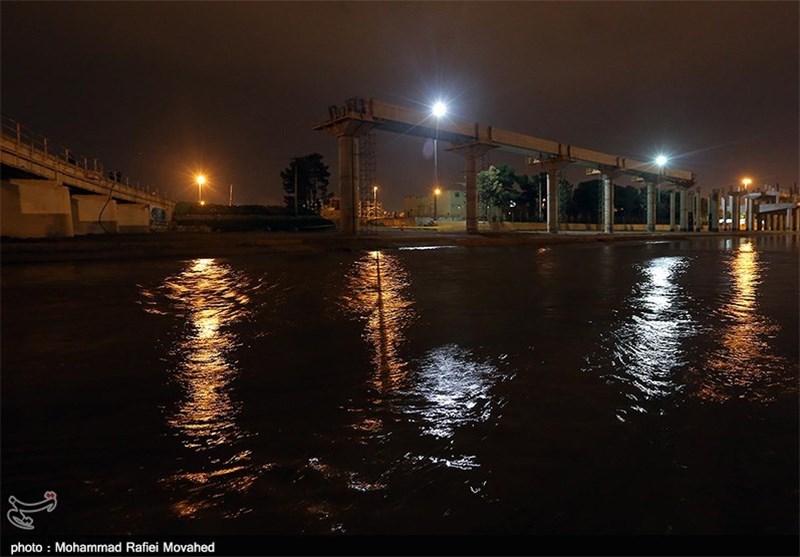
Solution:
{"label": "dark brownish night sky above the bridges", "polygon": [[[279,203],[280,169],[335,140],[347,97],[650,159],[704,189],[798,181],[798,2],[14,2],[2,111],[107,169],[195,199]],[[388,208],[427,191],[423,140],[379,133]],[[440,149],[446,145],[440,144]],[[520,157],[491,155],[514,164]],[[445,182],[462,161],[440,155]],[[579,180],[581,172],[574,177]]]}

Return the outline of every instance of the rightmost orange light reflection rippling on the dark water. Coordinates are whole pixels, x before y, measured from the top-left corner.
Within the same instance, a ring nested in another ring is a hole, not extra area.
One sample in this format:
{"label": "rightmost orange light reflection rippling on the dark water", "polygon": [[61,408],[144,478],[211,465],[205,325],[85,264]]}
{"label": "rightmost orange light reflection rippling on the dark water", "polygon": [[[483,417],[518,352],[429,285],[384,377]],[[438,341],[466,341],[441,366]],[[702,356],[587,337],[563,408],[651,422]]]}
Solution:
{"label": "rightmost orange light reflection rippling on the dark water", "polygon": [[717,402],[735,397],[767,402],[796,385],[784,373],[789,362],[771,353],[780,327],[758,311],[766,264],[749,241],[734,247],[729,239],[726,247],[732,251],[726,261],[731,289],[714,312],[719,346],[698,378],[697,395]]}

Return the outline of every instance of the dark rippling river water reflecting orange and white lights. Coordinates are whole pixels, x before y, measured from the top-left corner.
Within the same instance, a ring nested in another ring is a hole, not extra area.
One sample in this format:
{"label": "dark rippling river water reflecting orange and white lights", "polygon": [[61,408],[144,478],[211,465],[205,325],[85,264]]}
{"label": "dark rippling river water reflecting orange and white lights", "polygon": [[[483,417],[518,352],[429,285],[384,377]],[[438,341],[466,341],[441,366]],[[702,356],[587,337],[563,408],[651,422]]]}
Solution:
{"label": "dark rippling river water reflecting orange and white lights", "polygon": [[799,248],[7,265],[4,492],[50,534],[797,534]]}

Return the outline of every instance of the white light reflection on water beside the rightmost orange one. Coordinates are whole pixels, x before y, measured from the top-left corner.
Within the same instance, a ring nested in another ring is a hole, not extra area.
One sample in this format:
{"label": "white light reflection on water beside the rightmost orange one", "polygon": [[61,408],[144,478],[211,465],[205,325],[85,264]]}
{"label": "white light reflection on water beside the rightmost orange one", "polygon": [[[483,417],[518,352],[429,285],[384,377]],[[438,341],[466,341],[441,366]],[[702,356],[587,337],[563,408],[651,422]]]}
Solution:
{"label": "white light reflection on water beside the rightmost orange one", "polygon": [[668,256],[640,265],[641,280],[622,309],[626,318],[603,335],[600,353],[588,358],[589,369],[628,387],[628,408],[617,411],[621,421],[629,410],[647,412],[683,388],[675,371],[686,365],[683,341],[697,330],[686,309],[689,300],[677,284],[688,264],[686,257]]}

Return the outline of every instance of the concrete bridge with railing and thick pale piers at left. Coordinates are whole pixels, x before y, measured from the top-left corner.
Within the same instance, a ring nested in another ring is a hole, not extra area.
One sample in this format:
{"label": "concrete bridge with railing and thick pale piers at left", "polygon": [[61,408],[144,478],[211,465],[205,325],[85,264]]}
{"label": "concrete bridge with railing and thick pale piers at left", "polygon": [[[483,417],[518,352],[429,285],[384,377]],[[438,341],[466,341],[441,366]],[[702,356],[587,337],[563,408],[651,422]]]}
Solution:
{"label": "concrete bridge with railing and thick pale piers at left", "polygon": [[97,159],[2,117],[2,236],[41,238],[166,228],[175,202]]}

